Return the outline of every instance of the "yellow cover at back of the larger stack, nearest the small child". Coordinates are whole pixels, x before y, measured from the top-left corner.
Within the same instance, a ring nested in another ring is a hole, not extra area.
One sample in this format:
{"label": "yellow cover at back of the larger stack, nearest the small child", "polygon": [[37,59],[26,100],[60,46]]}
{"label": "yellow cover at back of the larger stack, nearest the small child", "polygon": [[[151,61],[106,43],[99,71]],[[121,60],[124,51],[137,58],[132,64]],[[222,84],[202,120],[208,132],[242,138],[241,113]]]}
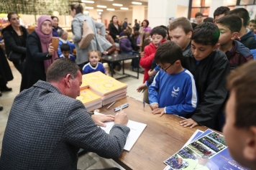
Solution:
{"label": "yellow cover at back of the larger stack, nearest the small child", "polygon": [[114,78],[109,77],[102,72],[91,72],[86,75],[83,75],[83,80],[87,82],[88,85],[91,85],[91,83],[94,83],[94,82],[101,82],[101,81],[110,80],[110,79],[114,79]]}

